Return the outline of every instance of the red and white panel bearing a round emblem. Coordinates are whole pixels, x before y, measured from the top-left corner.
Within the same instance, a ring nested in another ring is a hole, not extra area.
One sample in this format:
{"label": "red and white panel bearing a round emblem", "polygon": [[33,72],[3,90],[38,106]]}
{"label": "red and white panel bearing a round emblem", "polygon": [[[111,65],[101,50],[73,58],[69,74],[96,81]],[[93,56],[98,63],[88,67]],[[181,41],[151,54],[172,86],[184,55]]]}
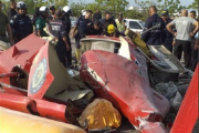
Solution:
{"label": "red and white panel bearing a round emblem", "polygon": [[49,42],[36,54],[29,74],[28,96],[42,99],[54,80],[49,66]]}

